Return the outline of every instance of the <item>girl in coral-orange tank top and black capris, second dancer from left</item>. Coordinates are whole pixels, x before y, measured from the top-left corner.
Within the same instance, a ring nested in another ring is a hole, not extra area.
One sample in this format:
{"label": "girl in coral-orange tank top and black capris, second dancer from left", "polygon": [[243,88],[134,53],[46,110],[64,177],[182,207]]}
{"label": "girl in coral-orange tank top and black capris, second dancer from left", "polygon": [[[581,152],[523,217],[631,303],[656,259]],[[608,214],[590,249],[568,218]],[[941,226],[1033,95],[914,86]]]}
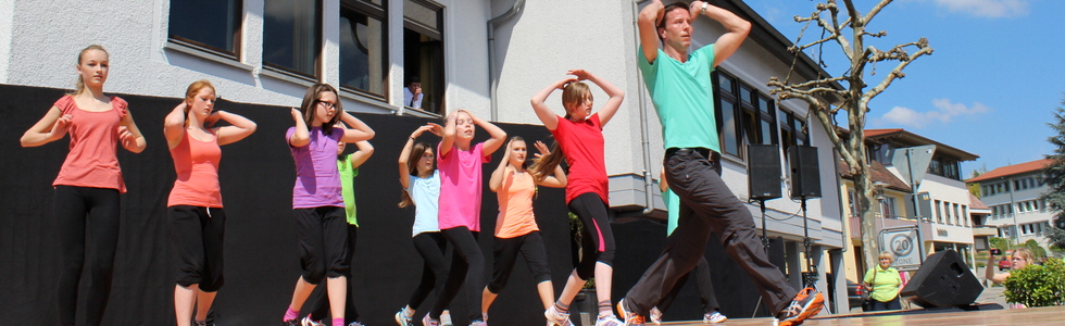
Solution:
{"label": "girl in coral-orange tank top and black capris, second dancer from left", "polygon": [[[166,115],[163,135],[174,158],[177,179],[166,201],[171,244],[177,253],[174,312],[178,326],[206,325],[208,311],[222,288],[222,243],[226,214],[218,187],[220,146],[255,131],[255,123],[225,111],[211,112],[216,99],[211,82],[189,85],[185,101]],[[229,126],[208,128],[218,120]]]}

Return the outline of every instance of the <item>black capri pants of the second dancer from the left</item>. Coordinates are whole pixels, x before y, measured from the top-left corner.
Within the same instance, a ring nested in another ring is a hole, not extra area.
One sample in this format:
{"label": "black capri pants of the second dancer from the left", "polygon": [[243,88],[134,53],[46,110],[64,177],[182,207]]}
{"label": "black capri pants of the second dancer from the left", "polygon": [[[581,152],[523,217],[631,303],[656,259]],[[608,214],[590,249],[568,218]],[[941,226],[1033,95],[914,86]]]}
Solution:
{"label": "black capri pants of the second dancer from the left", "polygon": [[222,209],[191,205],[167,208],[171,248],[177,258],[177,285],[214,292],[222,288],[223,243],[226,213]]}

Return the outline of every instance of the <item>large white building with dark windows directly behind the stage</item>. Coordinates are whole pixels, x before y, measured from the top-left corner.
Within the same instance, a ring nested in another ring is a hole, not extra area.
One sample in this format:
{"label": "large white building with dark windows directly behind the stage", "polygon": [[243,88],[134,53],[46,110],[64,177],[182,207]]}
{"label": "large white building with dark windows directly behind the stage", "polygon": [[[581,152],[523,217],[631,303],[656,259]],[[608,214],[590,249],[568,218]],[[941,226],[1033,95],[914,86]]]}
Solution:
{"label": "large white building with dark windows directly behind the stage", "polygon": [[[795,285],[802,283],[798,275],[805,269],[802,238],[809,231],[823,276],[820,288],[828,289],[825,273],[842,268],[848,238],[832,147],[825,129],[807,121],[805,104],[777,101],[765,85],[769,77],[788,75],[793,63],[795,82],[827,74],[805,55],[794,60],[787,50],[790,41],[742,1],[719,3],[754,25],[748,40],[713,75],[718,96],[707,110],[716,110],[718,118],[707,123],[716,123],[721,130],[723,178],[747,201],[751,159],[746,146],[777,145],[780,187],[788,193],[786,149],[817,147],[823,196],[810,199],[805,212],[797,201],[770,200],[763,225],[760,209],[748,206],[759,227],[785,239],[788,263],[784,267]],[[626,91],[623,106],[603,130],[611,214],[616,220],[663,220],[664,204],[656,190],[662,134],[636,64],[636,16],[646,4],[641,0],[155,0],[93,5],[70,0],[8,1],[0,4],[0,84],[71,88],[77,51],[99,43],[111,54],[108,92],[179,98],[189,83],[209,79],[229,101],[298,106],[309,85],[324,82],[339,87],[349,111],[438,117],[461,109],[494,122],[539,124],[529,98],[565,78],[567,70],[584,68]],[[694,22],[694,30],[693,49],[712,43],[724,27],[702,17]],[[403,87],[411,77],[421,79],[422,108],[403,101]],[[599,103],[605,102],[605,95],[591,88]],[[560,92],[548,103],[562,112]],[[837,297],[845,298],[843,279],[832,281]],[[845,311],[845,300],[840,301]]]}

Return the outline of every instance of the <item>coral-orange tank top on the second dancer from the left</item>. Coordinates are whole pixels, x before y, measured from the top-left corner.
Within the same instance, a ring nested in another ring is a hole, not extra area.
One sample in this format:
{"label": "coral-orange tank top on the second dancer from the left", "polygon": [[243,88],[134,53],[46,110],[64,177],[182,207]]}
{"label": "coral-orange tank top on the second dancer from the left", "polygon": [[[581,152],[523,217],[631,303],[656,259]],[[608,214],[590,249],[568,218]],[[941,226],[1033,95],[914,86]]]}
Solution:
{"label": "coral-orange tank top on the second dancer from the left", "polygon": [[181,142],[171,149],[177,179],[166,200],[167,206],[191,205],[201,208],[222,208],[222,190],[218,186],[218,162],[222,149],[218,137],[211,140],[197,140],[188,130],[181,131]]}

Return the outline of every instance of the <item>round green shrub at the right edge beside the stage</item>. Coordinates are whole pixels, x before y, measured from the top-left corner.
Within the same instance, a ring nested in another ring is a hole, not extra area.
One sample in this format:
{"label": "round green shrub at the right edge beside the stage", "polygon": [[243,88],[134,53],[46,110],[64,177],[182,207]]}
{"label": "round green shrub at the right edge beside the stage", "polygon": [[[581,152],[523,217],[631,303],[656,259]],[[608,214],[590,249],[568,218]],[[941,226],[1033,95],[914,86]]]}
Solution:
{"label": "round green shrub at the right edge beside the stage", "polygon": [[1065,262],[1048,260],[1043,265],[1029,265],[1011,271],[1004,283],[1006,302],[1026,306],[1065,304]]}

